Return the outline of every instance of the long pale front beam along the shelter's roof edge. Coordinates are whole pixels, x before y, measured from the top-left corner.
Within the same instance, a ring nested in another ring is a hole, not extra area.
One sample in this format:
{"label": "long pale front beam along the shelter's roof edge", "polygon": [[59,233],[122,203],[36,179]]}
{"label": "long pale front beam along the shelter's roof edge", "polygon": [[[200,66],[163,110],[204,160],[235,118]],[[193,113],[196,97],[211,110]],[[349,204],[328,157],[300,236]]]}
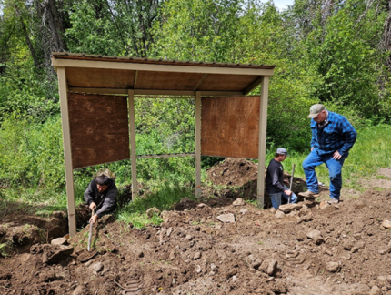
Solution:
{"label": "long pale front beam along the shelter's roof edge", "polygon": [[52,58],[53,66],[65,67],[86,67],[86,68],[107,68],[123,69],[133,71],[154,71],[154,72],[175,72],[175,73],[202,73],[202,74],[225,74],[225,75],[259,75],[272,76],[273,69],[266,68],[234,68],[216,66],[174,66],[174,65],[152,65],[121,62],[104,62],[95,60],[75,60]]}

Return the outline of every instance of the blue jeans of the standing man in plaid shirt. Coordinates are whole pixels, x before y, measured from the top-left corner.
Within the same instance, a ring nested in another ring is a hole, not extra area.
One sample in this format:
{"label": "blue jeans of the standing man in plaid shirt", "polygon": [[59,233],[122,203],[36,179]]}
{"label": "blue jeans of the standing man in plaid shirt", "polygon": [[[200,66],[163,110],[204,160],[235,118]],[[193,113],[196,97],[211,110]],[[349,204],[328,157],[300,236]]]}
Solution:
{"label": "blue jeans of the standing man in plaid shirt", "polygon": [[306,188],[314,193],[319,192],[315,168],[323,163],[326,164],[330,177],[330,198],[339,199],[342,187],[342,166],[348,153],[339,160],[329,156],[319,156],[314,148],[303,162],[304,173],[306,174]]}

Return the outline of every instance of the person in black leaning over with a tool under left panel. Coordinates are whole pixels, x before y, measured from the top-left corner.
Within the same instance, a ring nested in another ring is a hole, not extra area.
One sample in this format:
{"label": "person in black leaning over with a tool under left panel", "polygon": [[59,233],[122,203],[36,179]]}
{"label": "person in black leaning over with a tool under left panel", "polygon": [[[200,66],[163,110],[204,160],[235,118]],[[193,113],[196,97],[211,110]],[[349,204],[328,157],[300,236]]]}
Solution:
{"label": "person in black leaning over with a tool under left panel", "polygon": [[117,194],[118,189],[112,178],[100,175],[90,182],[85,190],[85,202],[89,209],[97,209],[90,222],[95,223],[98,218],[115,210]]}

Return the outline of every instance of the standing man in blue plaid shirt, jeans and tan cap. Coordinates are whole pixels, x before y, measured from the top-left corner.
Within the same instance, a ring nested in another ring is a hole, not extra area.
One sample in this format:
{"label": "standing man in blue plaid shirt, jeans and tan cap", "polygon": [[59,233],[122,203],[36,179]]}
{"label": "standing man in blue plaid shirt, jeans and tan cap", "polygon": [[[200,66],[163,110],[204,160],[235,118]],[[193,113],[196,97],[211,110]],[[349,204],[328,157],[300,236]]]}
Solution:
{"label": "standing man in blue plaid shirt, jeans and tan cap", "polygon": [[337,204],[342,187],[342,166],[356,142],[355,128],[346,117],[329,112],[325,106],[316,104],[309,109],[311,118],[311,153],[303,162],[306,174],[306,188],[299,196],[314,197],[319,192],[315,168],[323,163],[330,176],[329,204]]}

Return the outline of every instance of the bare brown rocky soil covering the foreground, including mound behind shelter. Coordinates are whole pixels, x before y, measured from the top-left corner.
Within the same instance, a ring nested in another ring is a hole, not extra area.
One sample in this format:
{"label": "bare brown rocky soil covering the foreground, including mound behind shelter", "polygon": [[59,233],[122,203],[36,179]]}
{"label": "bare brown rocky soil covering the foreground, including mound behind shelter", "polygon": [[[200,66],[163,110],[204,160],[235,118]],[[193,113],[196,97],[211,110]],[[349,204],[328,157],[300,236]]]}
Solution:
{"label": "bare brown rocky soil covering the foreground, including mound behind shelter", "polygon": [[[256,171],[252,162],[226,159],[209,169],[205,198],[162,212],[160,227],[101,219],[88,261],[87,227],[69,246],[55,246],[45,243],[64,234],[53,229],[67,222],[60,213],[8,214],[0,239],[11,239],[15,252],[0,259],[0,294],[391,294],[391,237],[382,226],[391,219],[389,182],[384,189],[369,182],[362,194],[346,190],[356,197],[337,206],[326,204],[325,187],[283,214],[243,201],[256,197]],[[293,190],[303,191],[305,181],[294,180]]]}

